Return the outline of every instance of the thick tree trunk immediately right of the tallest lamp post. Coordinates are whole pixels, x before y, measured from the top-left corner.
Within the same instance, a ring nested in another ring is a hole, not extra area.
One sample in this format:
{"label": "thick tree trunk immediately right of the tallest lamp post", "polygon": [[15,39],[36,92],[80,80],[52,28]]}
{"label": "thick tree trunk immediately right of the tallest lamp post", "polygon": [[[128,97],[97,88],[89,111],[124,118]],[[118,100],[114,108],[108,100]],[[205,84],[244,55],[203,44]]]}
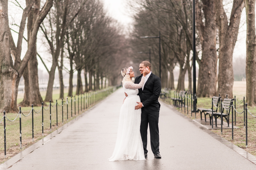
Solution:
{"label": "thick tree trunk immediately right of the tallest lamp post", "polygon": [[[215,17],[214,0],[203,0],[202,3],[205,25],[202,21],[201,7],[196,13],[196,25],[200,32],[202,45],[202,59],[200,60],[196,95],[198,97],[212,97],[217,93],[218,60],[216,52],[216,21],[213,19]],[[199,7],[198,0],[196,4]]]}

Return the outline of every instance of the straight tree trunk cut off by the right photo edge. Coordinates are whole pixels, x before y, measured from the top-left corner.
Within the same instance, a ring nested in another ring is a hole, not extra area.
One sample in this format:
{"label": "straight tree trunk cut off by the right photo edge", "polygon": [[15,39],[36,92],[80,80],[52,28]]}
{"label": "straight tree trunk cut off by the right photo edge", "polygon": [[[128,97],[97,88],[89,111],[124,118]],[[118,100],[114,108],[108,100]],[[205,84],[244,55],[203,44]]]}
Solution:
{"label": "straight tree trunk cut off by the right photo edge", "polygon": [[245,0],[246,9],[246,103],[256,105],[255,0]]}

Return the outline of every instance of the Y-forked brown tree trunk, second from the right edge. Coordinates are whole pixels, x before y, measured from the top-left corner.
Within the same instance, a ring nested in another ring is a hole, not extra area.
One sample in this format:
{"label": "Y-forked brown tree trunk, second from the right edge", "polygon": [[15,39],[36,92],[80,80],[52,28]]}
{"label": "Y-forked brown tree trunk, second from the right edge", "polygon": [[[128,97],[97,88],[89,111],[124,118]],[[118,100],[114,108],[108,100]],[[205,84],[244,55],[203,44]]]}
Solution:
{"label": "Y-forked brown tree trunk, second from the right edge", "polygon": [[244,0],[233,1],[229,23],[223,9],[222,0],[215,0],[214,2],[220,42],[218,93],[222,97],[228,94],[228,98],[233,98],[233,51],[236,45],[241,13],[244,8]]}

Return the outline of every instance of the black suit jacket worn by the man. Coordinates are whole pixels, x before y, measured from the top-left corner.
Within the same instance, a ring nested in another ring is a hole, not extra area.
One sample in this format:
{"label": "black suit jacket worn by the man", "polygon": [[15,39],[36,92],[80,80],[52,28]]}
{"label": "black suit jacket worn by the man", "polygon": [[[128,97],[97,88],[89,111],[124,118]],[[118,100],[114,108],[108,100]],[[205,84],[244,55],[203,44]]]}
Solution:
{"label": "black suit jacket worn by the man", "polygon": [[[142,75],[136,77],[134,83],[139,84]],[[139,89],[140,102],[143,106],[141,111],[154,112],[160,110],[160,103],[158,98],[161,93],[161,80],[158,76],[151,72],[148,80],[145,83],[144,89]]]}

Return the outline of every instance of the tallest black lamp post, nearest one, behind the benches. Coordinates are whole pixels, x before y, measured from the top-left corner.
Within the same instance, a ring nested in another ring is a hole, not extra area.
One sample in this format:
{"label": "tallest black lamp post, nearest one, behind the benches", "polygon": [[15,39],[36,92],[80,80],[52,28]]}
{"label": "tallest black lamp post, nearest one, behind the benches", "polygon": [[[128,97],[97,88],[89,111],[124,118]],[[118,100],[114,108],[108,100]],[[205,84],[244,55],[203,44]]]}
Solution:
{"label": "tallest black lamp post, nearest one, behind the benches", "polygon": [[[193,97],[196,94],[196,19],[195,19],[195,0],[193,0]],[[196,99],[195,101],[196,102]],[[195,104],[193,104],[195,106]],[[194,111],[195,111],[194,107]]]}

